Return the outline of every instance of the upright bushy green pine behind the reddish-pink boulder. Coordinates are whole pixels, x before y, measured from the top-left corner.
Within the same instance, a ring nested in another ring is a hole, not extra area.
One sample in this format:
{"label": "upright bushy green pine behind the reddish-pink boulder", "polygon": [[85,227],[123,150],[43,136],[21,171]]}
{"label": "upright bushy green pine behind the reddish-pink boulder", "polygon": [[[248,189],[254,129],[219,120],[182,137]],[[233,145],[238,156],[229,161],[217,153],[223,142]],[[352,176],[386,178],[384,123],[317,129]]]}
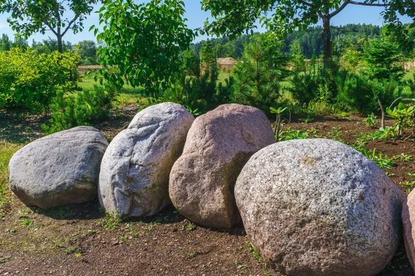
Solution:
{"label": "upright bushy green pine behind the reddish-pink boulder", "polygon": [[269,115],[269,107],[277,105],[280,84],[288,75],[288,59],[279,51],[279,44],[268,35],[253,37],[247,44],[241,63],[234,68],[234,100],[257,107]]}

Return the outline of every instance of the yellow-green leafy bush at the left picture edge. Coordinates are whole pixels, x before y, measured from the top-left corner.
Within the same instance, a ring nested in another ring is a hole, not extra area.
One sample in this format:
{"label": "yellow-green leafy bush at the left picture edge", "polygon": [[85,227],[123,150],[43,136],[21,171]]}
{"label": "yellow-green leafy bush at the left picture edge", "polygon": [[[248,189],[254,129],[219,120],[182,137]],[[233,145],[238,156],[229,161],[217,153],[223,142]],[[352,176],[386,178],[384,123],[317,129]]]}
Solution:
{"label": "yellow-green leafy bush at the left picture edge", "polygon": [[57,91],[77,86],[77,53],[34,55],[13,48],[0,52],[0,107],[28,107],[48,111]]}

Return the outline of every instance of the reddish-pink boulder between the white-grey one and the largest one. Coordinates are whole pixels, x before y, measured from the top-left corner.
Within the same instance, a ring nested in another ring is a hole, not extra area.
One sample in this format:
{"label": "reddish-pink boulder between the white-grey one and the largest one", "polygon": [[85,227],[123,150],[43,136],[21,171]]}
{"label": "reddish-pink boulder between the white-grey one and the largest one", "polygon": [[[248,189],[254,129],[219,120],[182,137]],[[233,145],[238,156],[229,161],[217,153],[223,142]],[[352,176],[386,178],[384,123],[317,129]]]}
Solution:
{"label": "reddish-pink boulder between the white-grey one and the largest one", "polygon": [[252,154],[273,142],[270,122],[255,107],[223,104],[196,118],[170,174],[176,209],[203,226],[231,228],[239,221],[233,196],[239,172]]}

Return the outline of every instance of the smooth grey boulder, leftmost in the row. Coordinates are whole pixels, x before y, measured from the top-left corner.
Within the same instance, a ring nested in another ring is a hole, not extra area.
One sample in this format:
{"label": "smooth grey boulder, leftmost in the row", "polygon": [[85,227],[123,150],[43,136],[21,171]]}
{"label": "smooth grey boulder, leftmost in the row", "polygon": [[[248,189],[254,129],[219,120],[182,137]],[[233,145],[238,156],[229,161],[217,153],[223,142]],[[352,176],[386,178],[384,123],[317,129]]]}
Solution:
{"label": "smooth grey boulder, leftmost in the row", "polygon": [[98,193],[107,146],[94,127],[75,127],[30,142],[10,159],[10,189],[26,205],[44,209],[89,201]]}

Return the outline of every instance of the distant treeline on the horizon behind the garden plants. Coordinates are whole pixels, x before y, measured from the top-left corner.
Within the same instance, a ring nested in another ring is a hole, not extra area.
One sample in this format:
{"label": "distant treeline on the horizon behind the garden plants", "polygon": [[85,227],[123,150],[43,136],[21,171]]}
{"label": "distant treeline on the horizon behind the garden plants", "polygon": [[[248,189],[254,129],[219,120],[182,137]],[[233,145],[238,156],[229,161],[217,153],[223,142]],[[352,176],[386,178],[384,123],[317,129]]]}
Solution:
{"label": "distant treeline on the horizon behind the garden plants", "polygon": [[[281,51],[284,55],[302,53],[307,59],[323,54],[322,46],[322,27],[314,26],[306,30],[297,30],[290,35],[282,38]],[[380,36],[382,27],[367,24],[347,24],[345,26],[331,26],[331,37],[333,42],[333,55],[341,55],[345,49],[353,48],[362,50],[363,39],[371,39]],[[412,29],[415,37],[415,28]],[[241,37],[230,40],[228,37],[209,39],[217,57],[242,57],[243,46],[251,41],[251,35],[241,35]],[[199,55],[203,44],[206,41],[191,44],[190,48]],[[100,56],[97,53],[98,45],[91,40],[84,40],[77,44],[78,51],[82,57],[81,64],[94,65],[99,64]],[[5,34],[0,39],[0,50],[10,50],[10,48],[20,47],[28,48],[28,42],[25,39],[9,39]],[[55,39],[35,42],[33,39],[32,46],[35,53],[51,53],[57,50],[57,41]],[[74,50],[75,45],[71,42],[63,42],[63,50]]]}

